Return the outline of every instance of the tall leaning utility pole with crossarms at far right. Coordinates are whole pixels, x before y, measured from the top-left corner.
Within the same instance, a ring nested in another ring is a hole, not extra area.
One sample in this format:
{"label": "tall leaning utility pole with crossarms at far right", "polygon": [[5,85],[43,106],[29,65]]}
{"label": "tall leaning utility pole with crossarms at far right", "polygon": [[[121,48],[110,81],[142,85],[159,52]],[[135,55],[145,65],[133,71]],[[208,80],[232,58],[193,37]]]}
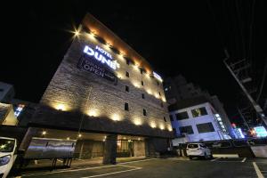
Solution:
{"label": "tall leaning utility pole with crossarms at far right", "polygon": [[[231,69],[231,67],[227,64],[226,61],[229,59],[229,53],[227,52],[227,50],[224,50],[224,53],[226,55],[226,58],[223,60],[223,63],[225,64],[226,68],[229,69],[229,71],[231,72],[231,75],[235,78],[235,80],[238,82],[238,84],[241,87],[241,89],[243,90],[243,92],[246,94],[247,99],[253,105],[257,115],[262,118],[265,126],[267,126],[267,119],[266,119],[265,115],[263,114],[263,109],[251,97],[251,95],[247,92],[247,89],[245,88],[245,86],[240,82],[239,77],[237,77],[237,75],[234,73],[234,71]],[[243,61],[245,61],[245,60],[243,60]],[[240,70],[240,69],[238,69],[238,70]]]}

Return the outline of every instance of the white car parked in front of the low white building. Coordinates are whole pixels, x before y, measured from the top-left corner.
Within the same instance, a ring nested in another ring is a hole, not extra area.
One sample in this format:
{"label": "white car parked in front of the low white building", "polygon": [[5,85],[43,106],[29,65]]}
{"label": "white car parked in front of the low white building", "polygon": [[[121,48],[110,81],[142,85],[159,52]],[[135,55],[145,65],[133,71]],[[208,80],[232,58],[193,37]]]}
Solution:
{"label": "white car parked in front of the low white building", "polygon": [[192,158],[213,158],[211,150],[203,143],[189,143],[186,148],[187,156]]}

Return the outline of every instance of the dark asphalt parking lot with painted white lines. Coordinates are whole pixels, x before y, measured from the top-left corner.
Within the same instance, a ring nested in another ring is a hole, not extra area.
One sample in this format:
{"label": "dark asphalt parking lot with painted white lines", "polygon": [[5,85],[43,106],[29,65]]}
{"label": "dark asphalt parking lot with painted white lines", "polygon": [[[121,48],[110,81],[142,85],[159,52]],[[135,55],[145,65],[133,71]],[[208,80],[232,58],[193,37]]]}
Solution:
{"label": "dark asphalt parking lot with painted white lines", "polygon": [[21,177],[263,178],[261,177],[262,175],[267,177],[266,159],[216,158],[213,160],[188,160],[179,158],[160,158],[122,163],[115,166],[87,166],[73,169],[54,170],[52,172],[26,173],[21,174]]}

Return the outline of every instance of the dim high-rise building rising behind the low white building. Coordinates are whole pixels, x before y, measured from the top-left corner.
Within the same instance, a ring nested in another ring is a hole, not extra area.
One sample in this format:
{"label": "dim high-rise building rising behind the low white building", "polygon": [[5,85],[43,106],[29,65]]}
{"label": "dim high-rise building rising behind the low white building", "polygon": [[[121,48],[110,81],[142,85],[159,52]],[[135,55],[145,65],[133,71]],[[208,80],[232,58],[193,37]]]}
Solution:
{"label": "dim high-rise building rising behind the low white building", "polygon": [[[170,108],[172,111],[178,111],[178,109],[174,109],[176,104],[179,105],[179,109],[188,109],[207,102],[210,105],[208,109],[211,110],[210,108],[212,107],[214,113],[220,115],[223,125],[231,138],[236,138],[236,134],[231,126],[229,117],[223,109],[223,103],[219,101],[216,95],[212,96],[207,91],[203,91],[198,85],[188,83],[181,75],[173,78],[166,78],[164,83],[166,101],[171,105]],[[174,105],[174,107],[172,107],[172,105]],[[211,119],[214,118],[214,116],[210,116]]]}

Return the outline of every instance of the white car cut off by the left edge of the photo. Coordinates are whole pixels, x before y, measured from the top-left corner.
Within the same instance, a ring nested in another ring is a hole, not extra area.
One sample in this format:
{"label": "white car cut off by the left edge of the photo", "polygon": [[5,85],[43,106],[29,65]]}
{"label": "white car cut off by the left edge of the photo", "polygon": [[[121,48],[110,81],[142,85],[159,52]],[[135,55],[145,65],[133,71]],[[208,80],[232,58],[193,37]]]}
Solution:
{"label": "white car cut off by the left edge of the photo", "polygon": [[0,137],[0,178],[5,178],[12,169],[17,158],[16,147],[16,139]]}

